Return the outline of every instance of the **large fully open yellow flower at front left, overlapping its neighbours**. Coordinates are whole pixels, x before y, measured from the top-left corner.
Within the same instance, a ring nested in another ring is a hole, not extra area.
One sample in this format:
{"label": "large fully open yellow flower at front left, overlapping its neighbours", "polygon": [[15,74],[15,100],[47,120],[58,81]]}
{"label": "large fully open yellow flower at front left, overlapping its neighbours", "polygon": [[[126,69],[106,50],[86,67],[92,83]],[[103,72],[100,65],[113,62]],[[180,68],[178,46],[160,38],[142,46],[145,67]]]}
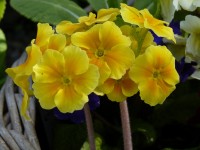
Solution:
{"label": "large fully open yellow flower at front left, overlapping its neighbours", "polygon": [[98,68],[75,46],[66,47],[62,53],[46,50],[33,72],[34,95],[42,108],[58,107],[63,113],[82,109],[99,79]]}

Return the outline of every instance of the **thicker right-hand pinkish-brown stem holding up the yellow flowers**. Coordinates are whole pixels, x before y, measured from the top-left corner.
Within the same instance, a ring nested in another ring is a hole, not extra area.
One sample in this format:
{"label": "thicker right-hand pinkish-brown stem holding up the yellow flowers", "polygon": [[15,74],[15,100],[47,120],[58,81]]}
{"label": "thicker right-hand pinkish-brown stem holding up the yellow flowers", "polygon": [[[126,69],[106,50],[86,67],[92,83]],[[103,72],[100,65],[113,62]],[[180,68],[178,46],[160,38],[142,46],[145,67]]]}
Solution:
{"label": "thicker right-hand pinkish-brown stem holding up the yellow flowers", "polygon": [[127,101],[125,100],[123,102],[120,102],[119,106],[121,113],[124,150],[133,150]]}

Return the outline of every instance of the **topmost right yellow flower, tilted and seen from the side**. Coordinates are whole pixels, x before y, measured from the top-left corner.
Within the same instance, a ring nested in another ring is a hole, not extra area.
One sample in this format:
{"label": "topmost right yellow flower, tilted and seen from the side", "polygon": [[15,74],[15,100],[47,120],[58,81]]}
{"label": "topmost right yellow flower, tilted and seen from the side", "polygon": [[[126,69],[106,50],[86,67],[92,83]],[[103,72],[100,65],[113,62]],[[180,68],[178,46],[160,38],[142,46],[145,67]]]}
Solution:
{"label": "topmost right yellow flower, tilted and seen from the side", "polygon": [[125,22],[138,25],[140,28],[152,30],[156,35],[176,42],[172,28],[167,22],[154,18],[147,9],[137,10],[126,4],[121,4],[121,16]]}

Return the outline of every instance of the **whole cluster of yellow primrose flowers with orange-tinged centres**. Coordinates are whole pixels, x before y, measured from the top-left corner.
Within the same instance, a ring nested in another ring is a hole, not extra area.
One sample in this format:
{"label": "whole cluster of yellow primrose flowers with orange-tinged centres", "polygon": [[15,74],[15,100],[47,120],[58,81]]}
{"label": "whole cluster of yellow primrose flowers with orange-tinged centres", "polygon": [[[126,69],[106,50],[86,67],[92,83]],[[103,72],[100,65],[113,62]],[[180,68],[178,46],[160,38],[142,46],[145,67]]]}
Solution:
{"label": "whole cluster of yellow primrose flowers with orange-tinged centres", "polygon": [[6,70],[24,94],[22,115],[32,94],[62,113],[81,110],[92,92],[122,102],[139,91],[145,103],[162,104],[179,82],[174,56],[152,35],[176,42],[168,24],[123,3],[77,23],[38,23],[25,63]]}

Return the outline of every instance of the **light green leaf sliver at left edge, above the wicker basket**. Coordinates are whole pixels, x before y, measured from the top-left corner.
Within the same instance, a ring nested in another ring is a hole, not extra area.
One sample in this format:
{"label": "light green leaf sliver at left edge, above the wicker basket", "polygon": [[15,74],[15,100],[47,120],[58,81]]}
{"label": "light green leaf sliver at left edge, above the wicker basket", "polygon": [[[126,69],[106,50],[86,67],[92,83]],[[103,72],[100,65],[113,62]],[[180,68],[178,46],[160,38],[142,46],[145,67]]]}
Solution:
{"label": "light green leaf sliver at left edge, above the wicker basket", "polygon": [[5,70],[5,55],[7,50],[6,39],[3,31],[0,29],[0,87],[3,84]]}

